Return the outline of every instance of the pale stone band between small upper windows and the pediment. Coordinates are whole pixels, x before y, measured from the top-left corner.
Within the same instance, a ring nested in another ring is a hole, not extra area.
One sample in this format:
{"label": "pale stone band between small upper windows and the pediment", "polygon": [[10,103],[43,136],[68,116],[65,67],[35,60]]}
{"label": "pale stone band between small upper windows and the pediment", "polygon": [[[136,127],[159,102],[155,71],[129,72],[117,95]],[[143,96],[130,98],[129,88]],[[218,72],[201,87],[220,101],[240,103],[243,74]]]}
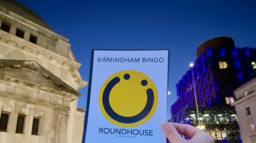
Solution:
{"label": "pale stone band between small upper windows and the pediment", "polygon": [[[6,41],[6,39],[8,39],[8,41]],[[19,37],[1,30],[0,58],[33,60],[76,90],[81,88],[79,84],[84,83],[77,68],[73,68],[76,66],[79,67],[79,63],[75,62],[72,64],[70,59],[61,58],[59,55],[52,53],[52,51],[43,49],[43,47],[31,44],[28,41],[24,41]]]}

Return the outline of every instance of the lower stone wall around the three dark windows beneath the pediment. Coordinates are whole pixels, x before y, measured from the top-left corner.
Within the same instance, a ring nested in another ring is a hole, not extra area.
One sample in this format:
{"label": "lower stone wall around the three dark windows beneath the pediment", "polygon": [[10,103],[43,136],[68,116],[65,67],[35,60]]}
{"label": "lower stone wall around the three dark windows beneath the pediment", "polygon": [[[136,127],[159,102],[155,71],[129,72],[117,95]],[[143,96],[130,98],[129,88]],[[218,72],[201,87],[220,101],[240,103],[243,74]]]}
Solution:
{"label": "lower stone wall around the three dark windows beneath the pediment", "polygon": [[[7,132],[0,132],[0,142],[58,142],[67,141],[68,111],[26,103],[23,100],[0,97],[0,111],[9,112]],[[15,133],[18,114],[26,115],[23,134]],[[39,135],[31,135],[32,120],[40,118]]]}

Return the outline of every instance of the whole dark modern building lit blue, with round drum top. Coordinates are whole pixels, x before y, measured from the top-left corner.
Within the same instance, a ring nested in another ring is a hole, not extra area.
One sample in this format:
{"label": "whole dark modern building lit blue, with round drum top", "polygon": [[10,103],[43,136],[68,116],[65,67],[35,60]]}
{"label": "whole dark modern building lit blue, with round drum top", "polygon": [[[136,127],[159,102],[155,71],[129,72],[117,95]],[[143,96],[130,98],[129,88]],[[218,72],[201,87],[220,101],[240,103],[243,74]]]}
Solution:
{"label": "whole dark modern building lit blue, with round drum top", "polygon": [[202,44],[192,67],[199,117],[189,68],[176,84],[172,122],[194,126],[200,122],[200,128],[214,136],[216,142],[241,142],[236,111],[231,103],[235,100],[234,89],[254,76],[255,64],[256,49],[235,47],[231,38],[214,38]]}

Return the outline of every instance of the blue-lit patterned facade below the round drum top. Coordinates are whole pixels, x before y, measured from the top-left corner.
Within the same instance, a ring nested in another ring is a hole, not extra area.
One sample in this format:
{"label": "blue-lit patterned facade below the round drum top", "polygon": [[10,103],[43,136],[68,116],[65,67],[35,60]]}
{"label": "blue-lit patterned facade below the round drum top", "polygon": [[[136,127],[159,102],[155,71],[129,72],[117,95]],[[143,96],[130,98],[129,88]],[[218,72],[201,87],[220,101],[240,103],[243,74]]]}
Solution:
{"label": "blue-lit patterned facade below the round drum top", "polygon": [[[219,62],[226,62],[228,67],[220,69]],[[196,59],[193,67],[199,108],[218,109],[229,116],[236,113],[234,107],[226,104],[225,97],[234,98],[234,89],[255,75],[256,69],[253,68],[252,62],[256,62],[256,49],[208,47]],[[171,106],[172,122],[193,124],[188,120],[191,114],[189,111],[195,109],[191,70],[189,68],[176,84],[177,101]],[[236,127],[238,129],[238,126]]]}

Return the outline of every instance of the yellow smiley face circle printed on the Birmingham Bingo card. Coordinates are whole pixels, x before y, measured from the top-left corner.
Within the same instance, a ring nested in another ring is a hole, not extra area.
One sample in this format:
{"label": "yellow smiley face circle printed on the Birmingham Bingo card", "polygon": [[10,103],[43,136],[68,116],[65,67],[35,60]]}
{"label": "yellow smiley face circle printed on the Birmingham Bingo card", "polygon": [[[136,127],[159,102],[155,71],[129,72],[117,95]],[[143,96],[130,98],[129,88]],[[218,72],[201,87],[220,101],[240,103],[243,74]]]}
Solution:
{"label": "yellow smiley face circle printed on the Birmingham Bingo card", "polygon": [[154,82],[139,71],[116,72],[101,86],[100,110],[109,122],[119,127],[137,127],[147,122],[157,104]]}

